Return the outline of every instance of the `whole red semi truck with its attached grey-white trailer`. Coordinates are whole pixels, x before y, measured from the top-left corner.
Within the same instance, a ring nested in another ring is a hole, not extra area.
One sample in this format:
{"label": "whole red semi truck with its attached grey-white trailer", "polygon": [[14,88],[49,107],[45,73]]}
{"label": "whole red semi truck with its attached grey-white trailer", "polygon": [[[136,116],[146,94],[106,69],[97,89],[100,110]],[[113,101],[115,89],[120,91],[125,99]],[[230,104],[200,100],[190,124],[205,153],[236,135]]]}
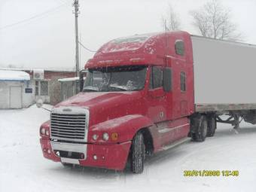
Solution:
{"label": "whole red semi truck with its attached grey-white trailer", "polygon": [[[217,122],[256,123],[256,47],[187,32],[117,38],[81,72],[81,93],[40,128],[44,157],[143,171],[147,155],[214,136]],[[223,119],[221,114],[227,114]]]}

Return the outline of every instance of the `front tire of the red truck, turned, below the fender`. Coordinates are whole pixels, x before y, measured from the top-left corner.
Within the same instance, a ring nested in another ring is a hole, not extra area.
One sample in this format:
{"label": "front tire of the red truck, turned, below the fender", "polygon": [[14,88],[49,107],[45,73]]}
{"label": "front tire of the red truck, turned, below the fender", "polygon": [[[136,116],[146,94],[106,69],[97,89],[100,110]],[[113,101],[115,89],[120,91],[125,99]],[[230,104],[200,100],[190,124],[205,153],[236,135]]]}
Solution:
{"label": "front tire of the red truck, turned, below the fender", "polygon": [[145,144],[141,132],[136,133],[133,138],[131,148],[131,171],[133,173],[142,173],[145,160]]}

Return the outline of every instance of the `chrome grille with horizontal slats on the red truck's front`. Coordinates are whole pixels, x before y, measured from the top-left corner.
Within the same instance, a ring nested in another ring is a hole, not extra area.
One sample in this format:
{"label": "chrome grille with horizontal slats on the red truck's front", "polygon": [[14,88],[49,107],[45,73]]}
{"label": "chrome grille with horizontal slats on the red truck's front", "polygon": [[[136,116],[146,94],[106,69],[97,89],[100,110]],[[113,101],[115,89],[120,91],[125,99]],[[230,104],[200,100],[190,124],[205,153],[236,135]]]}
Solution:
{"label": "chrome grille with horizontal slats on the red truck's front", "polygon": [[84,140],[86,114],[59,114],[50,116],[50,135],[58,139]]}

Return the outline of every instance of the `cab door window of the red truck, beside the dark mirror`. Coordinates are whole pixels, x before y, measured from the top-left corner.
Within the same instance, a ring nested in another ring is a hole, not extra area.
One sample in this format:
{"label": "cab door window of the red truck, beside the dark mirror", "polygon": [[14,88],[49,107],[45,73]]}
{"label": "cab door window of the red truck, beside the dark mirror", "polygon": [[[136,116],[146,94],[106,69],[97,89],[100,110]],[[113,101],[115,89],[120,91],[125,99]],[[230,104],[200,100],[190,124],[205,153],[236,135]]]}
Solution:
{"label": "cab door window of the red truck, beside the dark mirror", "polygon": [[150,89],[156,89],[163,86],[163,70],[160,67],[151,68]]}

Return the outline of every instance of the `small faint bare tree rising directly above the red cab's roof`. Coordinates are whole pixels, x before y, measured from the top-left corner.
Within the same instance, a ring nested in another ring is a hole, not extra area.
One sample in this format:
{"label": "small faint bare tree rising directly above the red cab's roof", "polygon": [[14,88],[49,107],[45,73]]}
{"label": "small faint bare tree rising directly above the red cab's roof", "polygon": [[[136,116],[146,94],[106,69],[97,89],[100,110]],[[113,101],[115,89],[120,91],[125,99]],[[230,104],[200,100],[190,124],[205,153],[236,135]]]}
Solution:
{"label": "small faint bare tree rising directly above the red cab's roof", "polygon": [[169,5],[169,9],[166,11],[166,15],[162,16],[162,26],[163,29],[167,31],[177,31],[181,27],[178,14],[175,13],[172,5]]}

